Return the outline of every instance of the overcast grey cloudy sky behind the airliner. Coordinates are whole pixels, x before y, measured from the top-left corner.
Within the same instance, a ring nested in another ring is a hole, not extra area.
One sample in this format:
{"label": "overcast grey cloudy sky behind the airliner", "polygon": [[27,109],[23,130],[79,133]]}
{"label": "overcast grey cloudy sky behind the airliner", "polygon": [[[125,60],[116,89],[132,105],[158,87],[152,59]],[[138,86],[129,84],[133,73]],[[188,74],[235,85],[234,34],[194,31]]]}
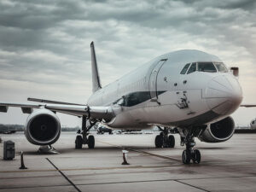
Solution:
{"label": "overcast grey cloudy sky behind the airliner", "polygon": [[[193,2],[193,3],[187,3]],[[90,42],[102,84],[177,49],[200,49],[240,67],[244,103],[256,103],[256,1],[0,1],[0,101],[28,96],[85,103],[91,94]],[[80,119],[59,115],[62,125]],[[255,108],[232,115],[236,125]],[[25,122],[20,109],[0,123]]]}

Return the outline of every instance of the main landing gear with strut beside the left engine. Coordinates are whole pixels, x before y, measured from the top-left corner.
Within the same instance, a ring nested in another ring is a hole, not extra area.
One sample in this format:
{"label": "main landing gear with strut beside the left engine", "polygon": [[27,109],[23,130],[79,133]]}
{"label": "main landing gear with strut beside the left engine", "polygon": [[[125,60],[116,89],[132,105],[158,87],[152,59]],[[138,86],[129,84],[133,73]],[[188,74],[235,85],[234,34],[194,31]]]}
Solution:
{"label": "main landing gear with strut beside the left engine", "polygon": [[95,138],[94,136],[89,135],[89,132],[90,131],[90,128],[93,127],[94,125],[96,125],[96,121],[91,121],[89,120],[90,122],[90,125],[88,127],[86,127],[86,117],[83,116],[82,118],[82,131],[78,131],[78,135],[76,137],[76,141],[75,141],[75,148],[82,148],[83,147],[83,144],[88,144],[88,148],[94,148],[95,146]]}

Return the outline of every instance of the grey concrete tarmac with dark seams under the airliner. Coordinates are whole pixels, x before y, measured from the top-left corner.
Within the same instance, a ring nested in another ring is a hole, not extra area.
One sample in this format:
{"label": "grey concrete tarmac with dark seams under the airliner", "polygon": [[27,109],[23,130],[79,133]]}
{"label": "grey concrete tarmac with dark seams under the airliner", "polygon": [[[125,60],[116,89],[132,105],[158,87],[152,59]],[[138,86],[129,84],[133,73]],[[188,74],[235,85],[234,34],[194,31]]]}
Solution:
{"label": "grey concrete tarmac with dark seams under the airliner", "polygon": [[[15,142],[15,159],[3,160],[3,191],[256,191],[256,134],[235,134],[224,143],[201,143],[201,164],[183,165],[175,148],[154,148],[155,134],[95,135],[96,148],[74,149],[74,132],[53,146],[61,154],[38,154],[22,133],[0,135]],[[123,162],[122,148],[129,151]],[[20,170],[20,151],[26,170]]]}

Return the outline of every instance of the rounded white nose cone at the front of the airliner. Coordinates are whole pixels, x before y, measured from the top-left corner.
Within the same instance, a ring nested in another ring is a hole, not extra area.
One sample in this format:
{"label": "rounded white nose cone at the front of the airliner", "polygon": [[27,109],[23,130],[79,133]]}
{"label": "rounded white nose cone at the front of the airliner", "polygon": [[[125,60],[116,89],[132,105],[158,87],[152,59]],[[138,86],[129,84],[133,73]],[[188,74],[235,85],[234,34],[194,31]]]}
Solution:
{"label": "rounded white nose cone at the front of the airliner", "polygon": [[213,112],[228,115],[236,111],[241,103],[241,86],[230,74],[217,76],[207,84],[205,98]]}

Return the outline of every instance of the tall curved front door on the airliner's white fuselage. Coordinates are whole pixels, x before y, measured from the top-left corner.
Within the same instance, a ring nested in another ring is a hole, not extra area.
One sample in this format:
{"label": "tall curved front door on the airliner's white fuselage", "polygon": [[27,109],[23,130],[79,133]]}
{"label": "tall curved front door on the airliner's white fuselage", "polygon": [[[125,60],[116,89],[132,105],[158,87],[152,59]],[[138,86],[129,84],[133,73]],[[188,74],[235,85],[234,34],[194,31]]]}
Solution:
{"label": "tall curved front door on the airliner's white fuselage", "polygon": [[149,77],[149,92],[151,97],[151,102],[157,102],[157,76],[160,68],[164,65],[167,59],[160,60],[153,68]]}

